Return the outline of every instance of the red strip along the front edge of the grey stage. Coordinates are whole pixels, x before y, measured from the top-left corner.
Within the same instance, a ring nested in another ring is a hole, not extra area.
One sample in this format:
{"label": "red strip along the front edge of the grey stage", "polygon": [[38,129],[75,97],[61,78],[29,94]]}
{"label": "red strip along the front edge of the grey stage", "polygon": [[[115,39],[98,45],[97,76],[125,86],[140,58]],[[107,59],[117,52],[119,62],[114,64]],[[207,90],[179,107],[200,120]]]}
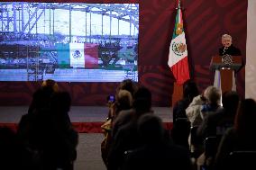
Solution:
{"label": "red strip along the front edge of the grey stage", "polygon": [[[72,122],[75,130],[78,133],[102,133],[101,125],[104,122]],[[0,127],[8,127],[14,131],[17,130],[17,123],[0,123]],[[166,130],[171,130],[172,122],[165,122],[164,127]]]}

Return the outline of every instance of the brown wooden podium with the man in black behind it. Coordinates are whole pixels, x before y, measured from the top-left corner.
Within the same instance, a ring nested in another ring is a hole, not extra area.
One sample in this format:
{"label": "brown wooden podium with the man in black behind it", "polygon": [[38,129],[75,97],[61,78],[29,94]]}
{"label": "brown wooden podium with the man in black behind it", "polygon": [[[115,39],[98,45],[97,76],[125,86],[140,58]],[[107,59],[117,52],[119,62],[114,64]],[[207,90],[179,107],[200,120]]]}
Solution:
{"label": "brown wooden podium with the man in black behind it", "polygon": [[[222,93],[235,90],[234,72],[242,66],[241,56],[228,56],[229,63],[224,61],[223,56],[214,56],[211,60],[210,68],[215,70],[215,82],[219,82]],[[218,80],[216,80],[218,79]]]}

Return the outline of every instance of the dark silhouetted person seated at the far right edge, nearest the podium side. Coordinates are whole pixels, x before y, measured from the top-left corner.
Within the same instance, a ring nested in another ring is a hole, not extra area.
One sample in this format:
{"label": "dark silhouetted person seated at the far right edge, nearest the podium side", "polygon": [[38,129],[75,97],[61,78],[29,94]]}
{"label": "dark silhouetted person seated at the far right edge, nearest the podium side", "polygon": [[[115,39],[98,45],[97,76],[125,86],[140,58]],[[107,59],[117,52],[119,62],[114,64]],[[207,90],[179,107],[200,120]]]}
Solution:
{"label": "dark silhouetted person seated at the far right edge, nearest the podium side", "polygon": [[256,139],[254,137],[256,133],[255,111],[256,103],[253,99],[241,101],[235,115],[233,128],[226,130],[220,142],[215,157],[215,169],[233,169],[233,163],[228,161],[229,154],[232,151],[256,151]]}

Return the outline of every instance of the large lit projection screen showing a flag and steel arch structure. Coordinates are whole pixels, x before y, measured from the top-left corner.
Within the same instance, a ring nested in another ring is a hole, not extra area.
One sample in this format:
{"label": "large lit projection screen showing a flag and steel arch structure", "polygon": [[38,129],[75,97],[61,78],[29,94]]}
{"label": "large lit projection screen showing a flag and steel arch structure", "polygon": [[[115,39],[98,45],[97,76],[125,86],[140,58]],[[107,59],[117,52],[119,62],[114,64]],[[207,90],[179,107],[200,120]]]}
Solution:
{"label": "large lit projection screen showing a flag and steel arch structure", "polygon": [[139,4],[1,2],[0,81],[138,81]]}

